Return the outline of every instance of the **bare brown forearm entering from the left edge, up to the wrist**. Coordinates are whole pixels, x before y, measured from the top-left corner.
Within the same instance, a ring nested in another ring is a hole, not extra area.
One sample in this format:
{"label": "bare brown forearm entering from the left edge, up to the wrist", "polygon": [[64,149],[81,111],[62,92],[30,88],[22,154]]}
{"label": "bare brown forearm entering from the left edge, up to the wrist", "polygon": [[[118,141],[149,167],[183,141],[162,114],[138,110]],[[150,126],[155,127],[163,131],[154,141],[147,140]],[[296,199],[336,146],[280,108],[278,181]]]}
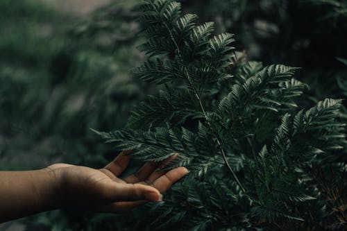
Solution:
{"label": "bare brown forearm entering from the left edge, up to the wrist", "polygon": [[0,223],[56,209],[60,184],[53,171],[0,171]]}

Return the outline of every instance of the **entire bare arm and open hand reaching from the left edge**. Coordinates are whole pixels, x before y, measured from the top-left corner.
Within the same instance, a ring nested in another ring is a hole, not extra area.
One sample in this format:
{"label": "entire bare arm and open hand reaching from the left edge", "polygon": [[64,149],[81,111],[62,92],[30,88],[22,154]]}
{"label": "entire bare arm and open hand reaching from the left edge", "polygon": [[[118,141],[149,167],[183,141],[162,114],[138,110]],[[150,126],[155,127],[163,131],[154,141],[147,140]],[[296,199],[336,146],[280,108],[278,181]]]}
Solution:
{"label": "entire bare arm and open hand reaching from the left edge", "polygon": [[185,167],[171,171],[163,162],[147,162],[137,173],[118,176],[130,162],[120,153],[103,169],[53,164],[37,171],[0,171],[0,223],[63,207],[94,212],[127,212],[149,201],[160,201],[174,182],[187,175]]}

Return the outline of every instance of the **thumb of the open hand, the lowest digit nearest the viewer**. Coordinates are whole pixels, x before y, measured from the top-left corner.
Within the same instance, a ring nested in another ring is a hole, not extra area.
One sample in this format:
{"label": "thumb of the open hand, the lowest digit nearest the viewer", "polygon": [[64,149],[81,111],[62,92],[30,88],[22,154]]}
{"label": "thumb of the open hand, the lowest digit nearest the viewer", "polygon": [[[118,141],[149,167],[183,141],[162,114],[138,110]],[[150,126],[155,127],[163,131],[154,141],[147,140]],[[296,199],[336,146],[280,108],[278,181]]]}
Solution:
{"label": "thumb of the open hand, the lowest digit nearest the viewer", "polygon": [[115,184],[108,196],[112,201],[151,200],[158,201],[162,195],[154,187],[141,184]]}

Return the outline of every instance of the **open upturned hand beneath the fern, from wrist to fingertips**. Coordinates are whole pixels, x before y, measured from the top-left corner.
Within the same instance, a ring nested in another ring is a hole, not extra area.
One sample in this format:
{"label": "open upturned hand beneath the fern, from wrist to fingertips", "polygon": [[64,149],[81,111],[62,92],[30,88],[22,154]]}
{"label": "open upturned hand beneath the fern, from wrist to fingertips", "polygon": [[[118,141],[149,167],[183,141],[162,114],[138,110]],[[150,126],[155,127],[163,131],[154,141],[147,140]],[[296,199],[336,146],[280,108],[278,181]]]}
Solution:
{"label": "open upturned hand beneath the fern, from wrist to fingertips", "polygon": [[162,194],[188,173],[185,167],[160,170],[177,156],[173,155],[163,162],[147,162],[137,173],[122,180],[118,176],[130,162],[128,153],[120,153],[103,169],[71,164],[48,166],[47,170],[60,182],[60,203],[96,212],[126,212],[149,201],[161,200]]}

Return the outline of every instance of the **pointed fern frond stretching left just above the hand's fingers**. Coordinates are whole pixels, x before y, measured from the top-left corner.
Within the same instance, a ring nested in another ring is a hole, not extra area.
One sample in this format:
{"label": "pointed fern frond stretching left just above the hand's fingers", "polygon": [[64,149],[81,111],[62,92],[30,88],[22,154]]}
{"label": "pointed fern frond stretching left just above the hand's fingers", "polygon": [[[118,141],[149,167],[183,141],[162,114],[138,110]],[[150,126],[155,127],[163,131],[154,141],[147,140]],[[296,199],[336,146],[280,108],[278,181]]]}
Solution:
{"label": "pointed fern frond stretching left just above the hand's fingers", "polygon": [[199,136],[182,128],[156,128],[154,131],[119,130],[98,132],[107,143],[112,143],[119,151],[132,150],[129,155],[143,161],[162,161],[178,153],[166,169],[187,166],[191,176],[203,176],[212,166],[221,165],[218,147],[208,142],[210,133],[200,126]]}

